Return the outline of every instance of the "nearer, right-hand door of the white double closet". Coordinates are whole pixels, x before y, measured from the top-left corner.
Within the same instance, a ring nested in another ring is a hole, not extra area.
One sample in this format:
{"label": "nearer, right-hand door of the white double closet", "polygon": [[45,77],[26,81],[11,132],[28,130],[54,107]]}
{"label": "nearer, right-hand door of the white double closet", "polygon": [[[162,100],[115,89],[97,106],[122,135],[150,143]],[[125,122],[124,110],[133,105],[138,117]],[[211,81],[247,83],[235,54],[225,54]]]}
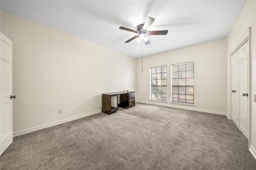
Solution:
{"label": "nearer, right-hand door of the white double closet", "polygon": [[248,41],[239,49],[239,62],[240,62],[240,109],[239,109],[239,127],[244,136],[248,138],[248,124],[249,124],[249,78],[248,78],[248,58],[249,46]]}

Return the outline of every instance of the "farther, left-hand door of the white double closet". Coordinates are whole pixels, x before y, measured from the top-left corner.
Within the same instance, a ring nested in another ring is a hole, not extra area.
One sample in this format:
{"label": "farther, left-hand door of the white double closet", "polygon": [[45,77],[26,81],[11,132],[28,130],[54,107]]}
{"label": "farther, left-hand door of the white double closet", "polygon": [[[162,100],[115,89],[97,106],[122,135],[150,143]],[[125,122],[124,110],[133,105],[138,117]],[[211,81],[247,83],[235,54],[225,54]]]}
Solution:
{"label": "farther, left-hand door of the white double closet", "polygon": [[239,52],[232,55],[232,120],[239,127]]}

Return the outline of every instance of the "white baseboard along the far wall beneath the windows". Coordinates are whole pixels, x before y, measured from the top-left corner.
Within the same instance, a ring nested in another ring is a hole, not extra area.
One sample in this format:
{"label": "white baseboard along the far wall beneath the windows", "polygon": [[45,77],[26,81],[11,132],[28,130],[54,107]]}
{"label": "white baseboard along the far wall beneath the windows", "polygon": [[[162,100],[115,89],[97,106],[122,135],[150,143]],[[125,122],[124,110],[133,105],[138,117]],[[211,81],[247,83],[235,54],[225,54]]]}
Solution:
{"label": "white baseboard along the far wall beneath the windows", "polygon": [[170,105],[170,103],[152,103],[150,101],[137,101],[137,103],[145,103],[145,104],[153,104],[153,105],[157,105],[157,106],[166,106],[169,108],[177,108],[177,109],[182,109],[182,110],[191,110],[191,111],[200,111],[200,112],[205,112],[205,113],[212,113],[215,115],[224,115],[227,117],[227,113],[222,112],[222,111],[214,111],[214,110],[204,110],[204,109],[200,109],[200,108],[195,108],[195,106],[180,106],[180,105]]}

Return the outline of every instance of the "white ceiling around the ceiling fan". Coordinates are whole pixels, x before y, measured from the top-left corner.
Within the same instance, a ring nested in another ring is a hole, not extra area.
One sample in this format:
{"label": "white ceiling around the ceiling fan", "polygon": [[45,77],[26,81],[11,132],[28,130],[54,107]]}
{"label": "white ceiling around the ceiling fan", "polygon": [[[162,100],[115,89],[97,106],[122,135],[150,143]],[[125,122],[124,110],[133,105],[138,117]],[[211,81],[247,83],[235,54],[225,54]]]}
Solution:
{"label": "white ceiling around the ceiling fan", "polygon": [[137,40],[124,43],[148,16],[156,18],[144,55],[195,45],[228,35],[243,8],[243,1],[1,1],[1,9],[92,41],[132,57],[141,56]]}

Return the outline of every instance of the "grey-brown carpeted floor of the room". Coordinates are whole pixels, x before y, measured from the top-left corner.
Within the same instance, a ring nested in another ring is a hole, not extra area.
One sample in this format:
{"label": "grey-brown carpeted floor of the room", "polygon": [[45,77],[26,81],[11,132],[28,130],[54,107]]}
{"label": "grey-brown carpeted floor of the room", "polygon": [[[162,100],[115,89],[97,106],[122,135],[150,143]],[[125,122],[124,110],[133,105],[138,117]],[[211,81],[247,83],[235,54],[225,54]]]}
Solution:
{"label": "grey-brown carpeted floor of the room", "polygon": [[224,116],[137,104],[19,136],[1,169],[256,169]]}

